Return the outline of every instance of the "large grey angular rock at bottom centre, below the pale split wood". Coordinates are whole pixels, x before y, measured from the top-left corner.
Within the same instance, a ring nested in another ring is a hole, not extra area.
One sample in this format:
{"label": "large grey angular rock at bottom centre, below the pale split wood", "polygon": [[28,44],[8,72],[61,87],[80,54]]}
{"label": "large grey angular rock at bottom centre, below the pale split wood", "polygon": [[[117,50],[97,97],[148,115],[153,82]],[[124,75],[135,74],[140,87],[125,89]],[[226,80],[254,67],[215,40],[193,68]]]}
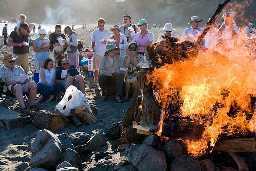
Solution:
{"label": "large grey angular rock at bottom centre, below the pale split wood", "polygon": [[128,162],[135,165],[141,171],[163,171],[167,169],[164,152],[155,150],[153,147],[145,144],[131,145]]}

